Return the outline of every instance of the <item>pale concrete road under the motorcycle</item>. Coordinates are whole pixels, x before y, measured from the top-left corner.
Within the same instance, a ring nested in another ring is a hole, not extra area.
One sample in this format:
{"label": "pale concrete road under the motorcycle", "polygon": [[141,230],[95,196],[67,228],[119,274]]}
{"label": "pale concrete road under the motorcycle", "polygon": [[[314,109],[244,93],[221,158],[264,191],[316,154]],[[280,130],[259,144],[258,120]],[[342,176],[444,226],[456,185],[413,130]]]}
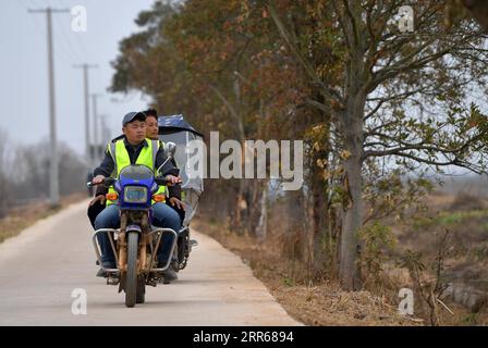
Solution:
{"label": "pale concrete road under the motorcycle", "polygon": [[[123,293],[95,277],[87,202],[41,220],[0,244],[0,325],[300,325],[239,257],[194,233],[199,246],[170,285],[147,287],[127,309]],[[87,313],[72,313],[72,291]]]}

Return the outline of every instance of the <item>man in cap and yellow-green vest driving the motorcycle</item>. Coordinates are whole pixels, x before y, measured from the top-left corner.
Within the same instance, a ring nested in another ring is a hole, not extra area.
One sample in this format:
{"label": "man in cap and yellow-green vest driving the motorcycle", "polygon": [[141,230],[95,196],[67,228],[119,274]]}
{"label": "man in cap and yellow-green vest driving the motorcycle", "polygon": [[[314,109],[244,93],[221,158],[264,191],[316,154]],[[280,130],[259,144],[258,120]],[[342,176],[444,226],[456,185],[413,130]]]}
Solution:
{"label": "man in cap and yellow-green vest driving the motorcycle", "polygon": [[[155,174],[157,169],[167,160],[163,152],[163,145],[159,140],[150,140],[146,138],[146,115],[143,112],[130,112],[122,121],[123,137],[108,145],[106,156],[101,164],[94,171],[93,184],[97,185],[103,182],[106,177],[117,176],[120,171],[131,164],[143,164],[150,167]],[[178,176],[179,170],[167,161],[159,170],[159,174],[167,177],[172,186],[181,181]],[[113,190],[113,188],[111,188]],[[161,191],[164,187],[161,186]],[[110,190],[109,190],[110,191]],[[157,227],[169,227],[176,232],[180,231],[181,221],[178,213],[162,202],[154,202],[154,225]],[[107,201],[107,208],[103,209],[95,219],[95,229],[99,228],[119,228],[120,227],[120,209],[117,201]],[[106,234],[97,236],[101,249],[101,262],[106,269],[115,268],[115,259],[110,245],[109,237]],[[166,264],[171,257],[171,245],[173,236],[163,235],[162,244],[158,249],[158,266]],[[172,268],[168,268],[163,276],[167,281],[176,278],[176,274]]]}

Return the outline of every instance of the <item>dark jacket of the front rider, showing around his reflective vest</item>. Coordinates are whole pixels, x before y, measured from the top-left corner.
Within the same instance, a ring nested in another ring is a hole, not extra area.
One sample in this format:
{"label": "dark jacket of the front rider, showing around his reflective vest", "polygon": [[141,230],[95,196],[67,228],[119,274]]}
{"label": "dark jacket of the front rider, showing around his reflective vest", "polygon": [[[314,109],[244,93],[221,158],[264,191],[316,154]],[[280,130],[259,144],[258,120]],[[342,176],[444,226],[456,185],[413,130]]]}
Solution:
{"label": "dark jacket of the front rider, showing around his reflective vest", "polygon": [[[125,138],[125,136],[123,137],[123,139],[124,139],[125,149],[127,150],[127,153],[129,153],[129,158],[131,159],[131,164],[135,164],[135,162],[137,161],[137,157],[139,156],[139,153],[143,150],[143,148],[147,147],[147,142],[143,141],[139,145],[134,147],[131,144],[129,144],[129,141]],[[164,156],[164,149],[163,149],[162,144],[160,144],[159,150],[156,153],[155,167],[159,167],[166,160],[167,160],[167,157]],[[115,167],[115,163],[113,163],[112,156],[110,154],[110,152],[107,149],[105,151],[105,158],[101,161],[100,165],[95,169],[94,175],[95,176],[103,175],[105,177],[109,177],[112,174],[114,167]],[[174,176],[178,176],[179,175],[179,170],[175,166],[174,161],[168,161],[162,166],[162,169],[160,171],[160,174],[162,176],[170,175],[170,174],[174,175]],[[171,197],[176,197],[176,198],[181,199],[181,187],[180,187],[180,185],[168,187],[168,191],[169,191],[170,198]],[[103,186],[98,186],[96,196],[105,195],[106,192],[107,192],[107,189]]]}

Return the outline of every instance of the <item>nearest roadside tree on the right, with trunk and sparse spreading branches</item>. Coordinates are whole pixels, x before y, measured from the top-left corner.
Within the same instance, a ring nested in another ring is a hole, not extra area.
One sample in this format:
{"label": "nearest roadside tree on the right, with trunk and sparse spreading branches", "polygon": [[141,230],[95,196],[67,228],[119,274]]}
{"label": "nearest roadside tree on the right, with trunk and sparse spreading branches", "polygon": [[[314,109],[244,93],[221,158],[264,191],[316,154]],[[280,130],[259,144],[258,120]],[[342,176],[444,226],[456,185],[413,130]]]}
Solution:
{"label": "nearest roadside tree on the right, with trunk and sparse spreading branches", "polygon": [[[330,117],[335,147],[343,153],[339,273],[343,288],[357,289],[357,232],[363,225],[367,159],[396,158],[403,166],[457,165],[477,173],[485,167],[486,117],[476,105],[463,108],[461,103],[471,88],[486,80],[485,35],[466,21],[446,33],[446,1],[416,3],[415,30],[404,34],[394,21],[404,1],[305,3],[301,5],[315,13],[309,22],[326,23],[324,37],[317,41],[329,49],[322,64],[339,66],[330,74],[320,74],[321,65],[309,59],[314,42],[296,36],[303,22],[285,16],[281,2],[266,1],[266,9],[322,99],[305,102]],[[429,117],[423,119],[426,114]]]}

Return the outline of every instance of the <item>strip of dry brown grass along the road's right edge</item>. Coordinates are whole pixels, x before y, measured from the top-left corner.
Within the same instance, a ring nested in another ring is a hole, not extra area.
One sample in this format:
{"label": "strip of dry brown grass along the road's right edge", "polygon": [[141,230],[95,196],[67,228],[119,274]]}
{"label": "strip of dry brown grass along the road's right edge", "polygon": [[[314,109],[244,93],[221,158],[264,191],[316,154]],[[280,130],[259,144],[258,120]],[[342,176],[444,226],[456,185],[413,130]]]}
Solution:
{"label": "strip of dry brown grass along the road's right edge", "polygon": [[286,312],[306,325],[422,325],[422,320],[399,315],[395,306],[368,291],[343,291],[328,281],[303,284],[303,265],[283,258],[272,239],[257,244],[203,217],[193,226],[237,253]]}

